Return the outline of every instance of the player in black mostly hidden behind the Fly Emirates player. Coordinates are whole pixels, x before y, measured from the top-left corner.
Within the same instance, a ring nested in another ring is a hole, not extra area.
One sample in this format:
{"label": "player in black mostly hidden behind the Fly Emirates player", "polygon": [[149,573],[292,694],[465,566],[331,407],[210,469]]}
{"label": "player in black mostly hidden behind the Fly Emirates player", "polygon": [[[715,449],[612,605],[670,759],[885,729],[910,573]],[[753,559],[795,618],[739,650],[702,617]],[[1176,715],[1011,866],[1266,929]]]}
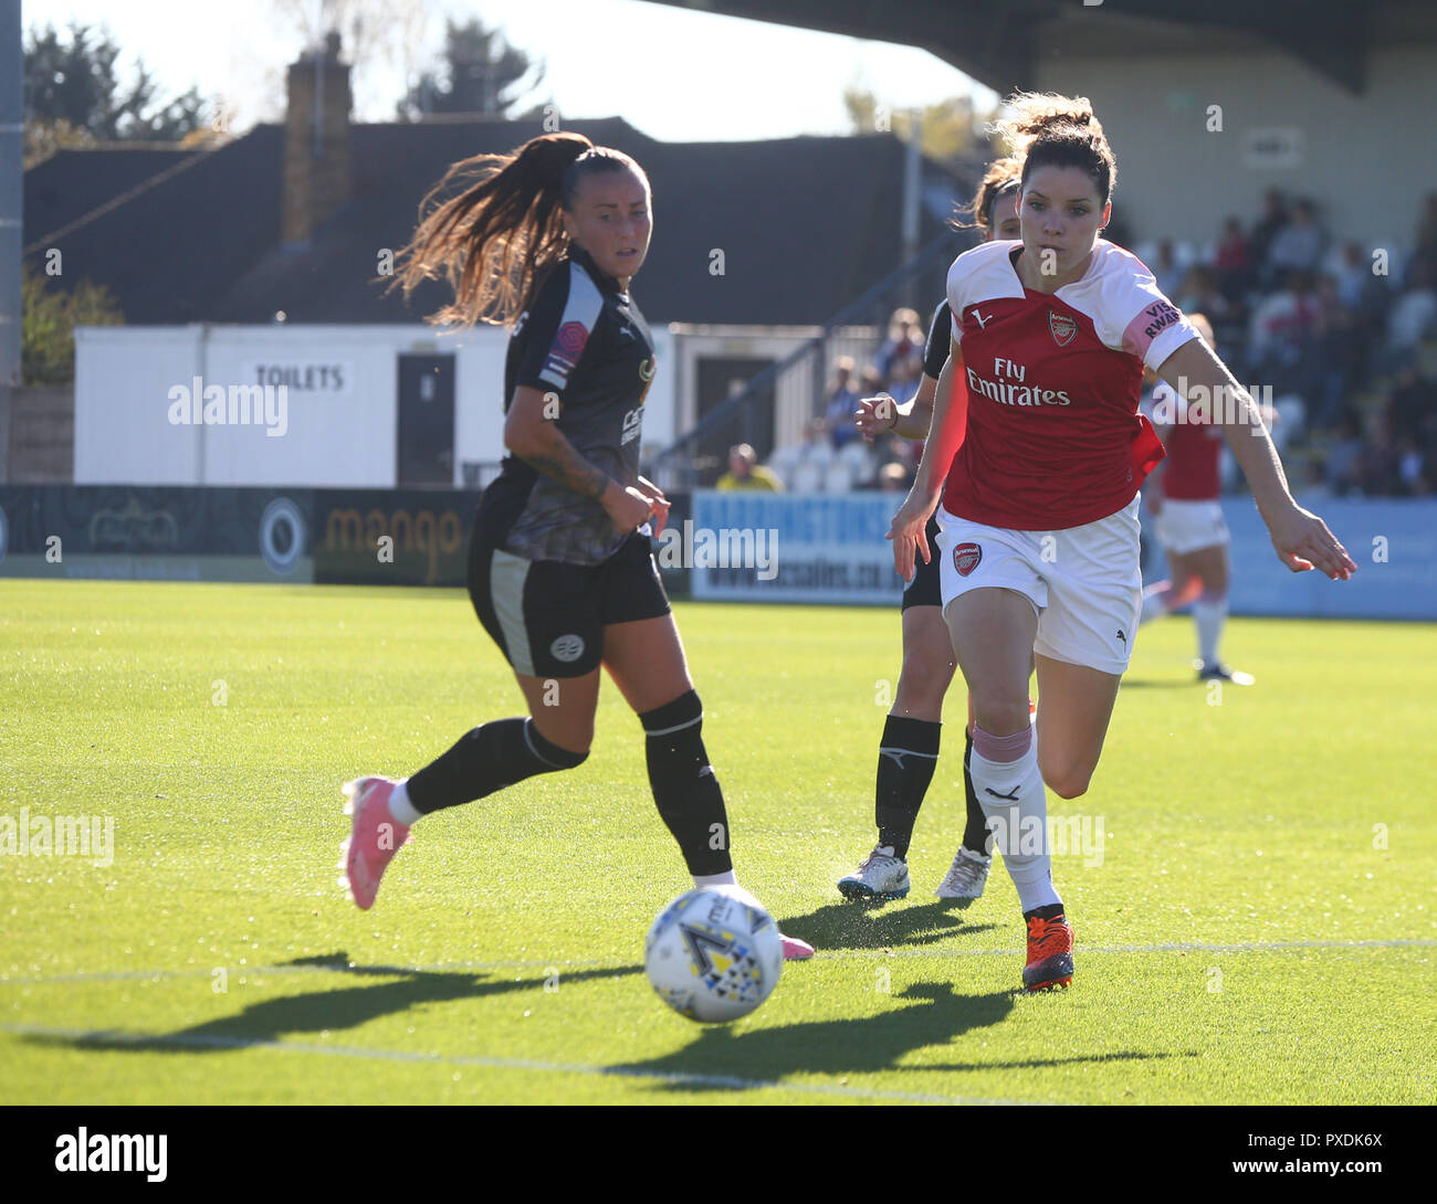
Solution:
{"label": "player in black mostly hidden behind the Fly Emirates player", "polygon": [[[1017,239],[1017,185],[1022,164],[1016,159],[996,159],[979,184],[973,198],[973,220],[986,241]],[[864,398],[854,417],[864,438],[898,434],[904,438],[927,438],[933,420],[933,398],[938,388],[938,374],[948,359],[953,319],[947,300],[934,310],[924,348],[924,374],[918,395],[907,405],[895,405],[891,398]],[[958,388],[961,388],[961,382]],[[938,523],[928,520],[927,536],[938,536]],[[912,839],[918,809],[923,806],[928,783],[938,760],[938,737],[943,730],[943,698],[953,681],[953,641],[943,622],[940,606],[937,560],[921,563],[902,595],[902,671],[894,691],[894,705],[884,723],[878,746],[878,776],[874,802],[874,822],[878,843],[852,874],[838,882],[838,889],[851,899],[901,899],[910,891],[908,843]],[[964,728],[971,746],[971,736]],[[938,898],[974,899],[983,894],[992,858],[987,852],[987,830],[983,807],[973,793],[964,750],[966,825],[963,843],[953,868],[938,885]]]}

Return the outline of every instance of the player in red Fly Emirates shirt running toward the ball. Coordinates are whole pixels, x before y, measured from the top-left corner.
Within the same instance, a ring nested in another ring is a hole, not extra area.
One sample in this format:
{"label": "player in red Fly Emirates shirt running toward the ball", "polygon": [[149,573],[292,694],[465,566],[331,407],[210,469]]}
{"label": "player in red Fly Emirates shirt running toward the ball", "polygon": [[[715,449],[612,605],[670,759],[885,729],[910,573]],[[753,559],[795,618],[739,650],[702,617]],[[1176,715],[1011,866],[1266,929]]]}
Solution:
{"label": "player in red Fly Emirates shirt running toward the ball", "polygon": [[[1088,789],[1138,619],[1137,493],[1163,455],[1137,414],[1142,365],[1174,388],[1232,398],[1214,409],[1283,563],[1332,579],[1357,565],[1293,501],[1253,399],[1152,273],[1098,239],[1117,162],[1089,102],[1020,93],[1009,103],[1022,241],[974,247],[948,272],[958,346],[888,534],[911,579],[915,557],[930,559],[924,526],[941,499],[943,612],[974,707],[973,786],[1027,922],[1023,984],[1039,990],[1073,974],[1045,783],[1065,799]],[[951,388],[960,371],[966,391]]]}

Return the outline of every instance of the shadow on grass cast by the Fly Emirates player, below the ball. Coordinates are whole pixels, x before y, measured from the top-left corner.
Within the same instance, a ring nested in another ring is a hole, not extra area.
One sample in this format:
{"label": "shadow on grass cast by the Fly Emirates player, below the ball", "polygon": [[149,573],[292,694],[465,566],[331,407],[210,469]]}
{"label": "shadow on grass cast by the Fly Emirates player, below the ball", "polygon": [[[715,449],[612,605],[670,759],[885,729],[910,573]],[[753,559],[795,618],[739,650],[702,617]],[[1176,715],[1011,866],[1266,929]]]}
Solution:
{"label": "shadow on grass cast by the Fly Emirates player, below the ball", "polygon": [[660,1090],[733,1090],[770,1086],[790,1075],[877,1075],[910,1069],[897,1065],[904,1055],[997,1024],[1012,1011],[1016,994],[960,996],[951,983],[914,983],[894,1000],[915,1003],[878,1016],[750,1032],[708,1027],[698,1040],[662,1057],[608,1069],[614,1075],[668,1078]]}

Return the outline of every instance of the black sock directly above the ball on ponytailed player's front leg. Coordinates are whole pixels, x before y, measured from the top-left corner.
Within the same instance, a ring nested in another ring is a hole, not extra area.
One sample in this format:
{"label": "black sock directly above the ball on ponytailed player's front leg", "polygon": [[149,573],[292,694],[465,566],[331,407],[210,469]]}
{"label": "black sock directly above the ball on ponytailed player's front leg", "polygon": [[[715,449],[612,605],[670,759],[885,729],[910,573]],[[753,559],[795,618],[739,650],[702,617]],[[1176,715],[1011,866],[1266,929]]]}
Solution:
{"label": "black sock directly above the ball on ponytailed player's front leg", "polygon": [[648,784],[658,815],[674,833],[690,874],[727,874],[729,815],[708,753],[704,751],[704,710],[690,690],[673,703],[639,716],[647,737]]}

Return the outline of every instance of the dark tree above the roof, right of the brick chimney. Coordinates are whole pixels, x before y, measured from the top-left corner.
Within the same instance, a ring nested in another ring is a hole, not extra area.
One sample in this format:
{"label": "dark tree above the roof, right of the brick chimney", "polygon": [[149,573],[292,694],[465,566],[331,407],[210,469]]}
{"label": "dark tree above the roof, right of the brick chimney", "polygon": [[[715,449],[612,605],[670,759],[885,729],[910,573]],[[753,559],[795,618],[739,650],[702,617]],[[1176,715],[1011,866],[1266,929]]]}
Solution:
{"label": "dark tree above the roof, right of the brick chimney", "polygon": [[519,102],[543,82],[545,68],[504,42],[477,19],[445,22],[443,69],[420,75],[399,102],[398,115],[418,121],[430,114],[520,116]]}

